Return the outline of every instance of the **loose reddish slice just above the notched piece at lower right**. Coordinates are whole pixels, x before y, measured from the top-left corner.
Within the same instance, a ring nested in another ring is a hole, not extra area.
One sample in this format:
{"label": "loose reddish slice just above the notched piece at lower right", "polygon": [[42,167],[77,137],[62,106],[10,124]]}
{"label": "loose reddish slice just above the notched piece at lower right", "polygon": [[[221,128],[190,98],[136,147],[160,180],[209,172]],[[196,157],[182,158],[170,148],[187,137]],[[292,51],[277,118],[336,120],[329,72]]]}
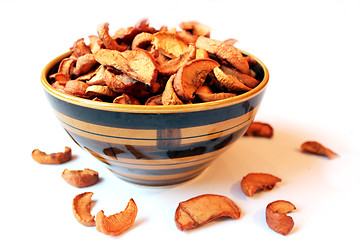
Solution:
{"label": "loose reddish slice just above the notched piece at lower right", "polygon": [[248,197],[260,190],[271,190],[281,179],[268,173],[249,173],[241,180],[241,189]]}

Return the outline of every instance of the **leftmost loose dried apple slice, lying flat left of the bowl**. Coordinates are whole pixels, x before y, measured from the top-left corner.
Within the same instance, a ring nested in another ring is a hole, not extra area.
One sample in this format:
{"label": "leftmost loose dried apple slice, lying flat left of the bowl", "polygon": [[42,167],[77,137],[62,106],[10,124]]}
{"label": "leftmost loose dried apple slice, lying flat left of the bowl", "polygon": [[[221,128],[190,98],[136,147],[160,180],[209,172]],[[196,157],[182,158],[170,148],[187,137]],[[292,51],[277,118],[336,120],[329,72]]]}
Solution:
{"label": "leftmost loose dried apple slice, lying flat left of the bowl", "polygon": [[45,152],[35,149],[31,153],[32,158],[40,164],[61,164],[70,161],[71,148],[65,147],[64,152],[46,154]]}

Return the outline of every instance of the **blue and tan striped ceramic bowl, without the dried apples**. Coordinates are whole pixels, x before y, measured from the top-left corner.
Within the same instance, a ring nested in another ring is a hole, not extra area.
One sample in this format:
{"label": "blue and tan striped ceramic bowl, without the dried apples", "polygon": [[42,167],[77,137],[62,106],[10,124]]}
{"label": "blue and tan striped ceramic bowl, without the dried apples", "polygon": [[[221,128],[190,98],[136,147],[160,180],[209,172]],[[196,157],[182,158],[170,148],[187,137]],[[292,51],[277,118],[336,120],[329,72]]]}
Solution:
{"label": "blue and tan striped ceramic bowl, without the dried apples", "polygon": [[[225,100],[176,106],[122,105],[74,97],[48,76],[65,53],[46,65],[41,82],[71,138],[117,176],[144,185],[169,185],[199,175],[254,120],[269,80],[265,65],[251,68],[261,83]],[[239,153],[240,154],[240,153]]]}

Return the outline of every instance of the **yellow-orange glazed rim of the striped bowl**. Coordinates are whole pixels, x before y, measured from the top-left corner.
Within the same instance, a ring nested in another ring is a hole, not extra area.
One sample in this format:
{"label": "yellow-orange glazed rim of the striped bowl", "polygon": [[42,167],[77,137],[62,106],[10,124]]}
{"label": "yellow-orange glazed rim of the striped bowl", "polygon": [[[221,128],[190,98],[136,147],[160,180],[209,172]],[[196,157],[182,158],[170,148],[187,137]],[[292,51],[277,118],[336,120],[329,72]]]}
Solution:
{"label": "yellow-orange glazed rim of the striped bowl", "polygon": [[204,103],[195,103],[195,104],[184,104],[184,105],[126,105],[126,104],[116,104],[116,103],[108,103],[108,102],[99,102],[92,101],[85,98],[75,97],[60,90],[55,89],[48,82],[47,76],[50,70],[59,63],[65,57],[70,56],[72,51],[61,54],[60,56],[51,60],[43,69],[41,73],[41,83],[47,93],[52,95],[53,97],[60,99],[62,101],[75,104],[82,107],[104,110],[104,111],[112,111],[112,112],[127,112],[127,113],[150,113],[150,114],[160,114],[160,113],[183,113],[183,112],[196,112],[203,111],[209,109],[216,109],[231,106],[240,102],[245,102],[250,98],[255,97],[256,95],[263,92],[269,82],[269,71],[266,68],[265,64],[260,61],[257,57],[252,54],[249,54],[246,51],[239,49],[243,54],[250,56],[256,60],[257,63],[260,64],[262,69],[264,70],[264,78],[255,88],[252,90],[243,93],[241,95],[212,101],[212,102],[204,102]]}

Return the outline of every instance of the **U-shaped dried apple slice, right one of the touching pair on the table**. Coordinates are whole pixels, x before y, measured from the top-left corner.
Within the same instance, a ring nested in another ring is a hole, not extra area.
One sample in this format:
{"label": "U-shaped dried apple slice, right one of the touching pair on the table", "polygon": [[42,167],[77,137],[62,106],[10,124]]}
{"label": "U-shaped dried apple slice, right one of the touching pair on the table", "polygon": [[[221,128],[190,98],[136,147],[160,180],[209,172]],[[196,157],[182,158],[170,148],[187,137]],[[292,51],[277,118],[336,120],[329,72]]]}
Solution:
{"label": "U-shaped dried apple slice, right one of the touching pair on the table", "polygon": [[135,222],[137,206],[133,199],[130,199],[125,210],[110,216],[105,216],[100,210],[96,214],[96,230],[105,235],[119,235],[128,230]]}

